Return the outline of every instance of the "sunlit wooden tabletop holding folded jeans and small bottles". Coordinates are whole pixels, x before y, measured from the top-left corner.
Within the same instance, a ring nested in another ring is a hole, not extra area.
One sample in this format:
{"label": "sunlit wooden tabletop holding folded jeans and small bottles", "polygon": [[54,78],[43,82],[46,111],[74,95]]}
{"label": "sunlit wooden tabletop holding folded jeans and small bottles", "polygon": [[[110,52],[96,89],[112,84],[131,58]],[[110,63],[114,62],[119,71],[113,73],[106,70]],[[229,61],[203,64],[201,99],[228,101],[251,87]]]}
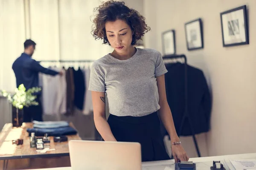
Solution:
{"label": "sunlit wooden tabletop holding folded jeans and small bottles", "polygon": [[[70,126],[75,128],[72,123]],[[0,133],[0,160],[69,156],[68,142],[55,143],[52,136],[50,136],[50,149],[55,148],[55,150],[38,153],[35,147],[30,148],[29,133],[26,129],[32,127],[32,123],[23,123],[21,127],[12,127],[11,123],[4,125]],[[78,134],[67,137],[68,140],[81,140]],[[23,139],[23,144],[13,145],[13,139]]]}

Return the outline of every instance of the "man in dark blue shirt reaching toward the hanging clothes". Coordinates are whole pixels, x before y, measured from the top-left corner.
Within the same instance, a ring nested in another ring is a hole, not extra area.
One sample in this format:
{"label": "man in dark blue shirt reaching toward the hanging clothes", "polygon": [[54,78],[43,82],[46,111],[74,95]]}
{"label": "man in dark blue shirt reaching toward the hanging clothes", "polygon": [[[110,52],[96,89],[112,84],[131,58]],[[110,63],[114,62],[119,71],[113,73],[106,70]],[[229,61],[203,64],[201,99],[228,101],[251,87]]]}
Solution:
{"label": "man in dark blue shirt reaching toward the hanging clothes", "polygon": [[[24,52],[18,57],[12,65],[12,69],[16,77],[17,87],[23,84],[26,89],[32,87],[39,87],[38,85],[38,73],[49,74],[55,76],[57,74],[62,75],[62,72],[53,71],[48,68],[44,68],[38,61],[32,59],[32,55],[35,51],[36,43],[32,40],[26,40],[24,42]],[[42,118],[42,106],[40,101],[41,92],[37,94],[36,102],[37,106],[30,106],[23,108],[23,122],[31,122],[32,120],[43,121]]]}

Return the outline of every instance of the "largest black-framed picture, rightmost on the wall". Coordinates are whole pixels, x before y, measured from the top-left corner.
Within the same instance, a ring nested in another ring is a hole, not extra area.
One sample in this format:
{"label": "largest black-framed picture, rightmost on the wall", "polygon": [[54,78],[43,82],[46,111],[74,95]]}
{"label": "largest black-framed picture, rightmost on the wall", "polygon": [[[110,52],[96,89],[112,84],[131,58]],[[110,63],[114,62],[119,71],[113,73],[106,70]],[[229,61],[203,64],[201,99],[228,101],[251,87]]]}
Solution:
{"label": "largest black-framed picture, rightmost on the wall", "polygon": [[221,31],[224,47],[249,44],[246,6],[222,12]]}

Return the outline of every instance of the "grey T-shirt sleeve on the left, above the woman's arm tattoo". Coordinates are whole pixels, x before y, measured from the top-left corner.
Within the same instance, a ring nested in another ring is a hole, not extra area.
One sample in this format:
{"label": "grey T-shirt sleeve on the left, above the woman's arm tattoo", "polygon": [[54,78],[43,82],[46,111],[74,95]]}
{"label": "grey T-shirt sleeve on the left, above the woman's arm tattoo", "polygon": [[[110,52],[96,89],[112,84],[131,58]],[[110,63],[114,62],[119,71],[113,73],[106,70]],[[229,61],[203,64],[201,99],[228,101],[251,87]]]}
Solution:
{"label": "grey T-shirt sleeve on the left, above the woman's arm tattoo", "polygon": [[105,92],[105,77],[95,62],[91,66],[88,90]]}

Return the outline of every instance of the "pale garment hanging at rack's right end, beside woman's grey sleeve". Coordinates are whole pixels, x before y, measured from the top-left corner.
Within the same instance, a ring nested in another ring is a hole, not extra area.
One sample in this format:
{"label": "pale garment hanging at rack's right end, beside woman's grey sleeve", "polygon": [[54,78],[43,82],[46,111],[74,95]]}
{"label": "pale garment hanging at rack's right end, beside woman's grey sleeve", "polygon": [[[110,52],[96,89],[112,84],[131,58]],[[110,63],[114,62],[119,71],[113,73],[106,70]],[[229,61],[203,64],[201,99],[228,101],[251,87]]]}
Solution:
{"label": "pale garment hanging at rack's right end, beside woman's grey sleeve", "polygon": [[[90,82],[90,68],[83,69],[84,79],[85,79],[85,87],[89,87]],[[92,92],[85,88],[84,94],[84,109],[83,114],[89,115],[93,112],[93,99],[92,99]]]}

